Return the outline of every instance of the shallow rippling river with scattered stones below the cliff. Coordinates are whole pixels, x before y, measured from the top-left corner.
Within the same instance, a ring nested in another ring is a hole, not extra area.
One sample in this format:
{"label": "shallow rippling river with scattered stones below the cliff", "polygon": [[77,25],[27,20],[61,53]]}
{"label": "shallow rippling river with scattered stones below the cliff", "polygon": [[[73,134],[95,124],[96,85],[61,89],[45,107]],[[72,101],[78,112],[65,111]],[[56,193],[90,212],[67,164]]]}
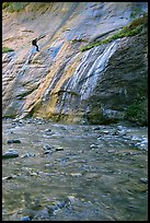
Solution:
{"label": "shallow rippling river with scattered stones below the cliff", "polygon": [[19,152],[2,160],[3,221],[148,219],[147,127],[5,119],[2,130],[2,153]]}

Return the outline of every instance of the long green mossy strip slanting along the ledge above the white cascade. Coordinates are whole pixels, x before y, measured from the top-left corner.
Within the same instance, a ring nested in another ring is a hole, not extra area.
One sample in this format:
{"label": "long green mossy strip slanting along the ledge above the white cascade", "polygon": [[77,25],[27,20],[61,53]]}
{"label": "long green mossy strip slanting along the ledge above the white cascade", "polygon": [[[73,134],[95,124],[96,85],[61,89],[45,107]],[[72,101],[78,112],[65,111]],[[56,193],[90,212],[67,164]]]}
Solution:
{"label": "long green mossy strip slanting along the ledge above the white cascade", "polygon": [[128,26],[125,26],[122,31],[119,31],[118,33],[114,34],[113,36],[105,38],[103,40],[100,42],[94,42],[91,45],[88,46],[83,46],[81,48],[81,51],[85,51],[89,50],[95,46],[100,46],[102,44],[107,44],[114,39],[117,38],[123,38],[123,37],[129,37],[129,36],[135,36],[139,33],[142,32],[142,30],[148,25],[148,14],[145,14],[142,17],[138,17],[136,20],[134,20]]}

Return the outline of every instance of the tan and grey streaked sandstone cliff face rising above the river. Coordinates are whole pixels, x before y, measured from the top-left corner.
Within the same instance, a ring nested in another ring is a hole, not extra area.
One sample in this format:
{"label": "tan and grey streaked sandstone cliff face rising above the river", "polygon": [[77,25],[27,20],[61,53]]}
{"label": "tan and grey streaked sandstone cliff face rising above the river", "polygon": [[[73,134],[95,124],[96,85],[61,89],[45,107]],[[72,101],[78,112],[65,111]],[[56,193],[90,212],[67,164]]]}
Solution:
{"label": "tan and grey streaked sandstone cliff face rising above the river", "polygon": [[[20,12],[4,9],[2,44],[14,51],[2,55],[3,117],[147,125],[147,32],[81,51],[143,12],[147,2],[36,2]],[[35,37],[41,37],[39,52],[33,54]],[[131,116],[136,105],[140,115]]]}

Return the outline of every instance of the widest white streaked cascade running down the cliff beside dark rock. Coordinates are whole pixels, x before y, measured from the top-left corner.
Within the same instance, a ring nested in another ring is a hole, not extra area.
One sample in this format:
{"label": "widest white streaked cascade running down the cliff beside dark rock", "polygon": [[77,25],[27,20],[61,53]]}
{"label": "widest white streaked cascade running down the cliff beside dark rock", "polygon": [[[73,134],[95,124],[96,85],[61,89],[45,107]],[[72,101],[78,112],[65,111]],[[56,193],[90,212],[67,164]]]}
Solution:
{"label": "widest white streaked cascade running down the cliff beside dark rock", "polygon": [[[59,110],[66,110],[72,99],[78,96],[78,102],[88,99],[95,89],[100,77],[104,72],[109,58],[117,49],[119,39],[108,44],[103,50],[101,46],[94,47],[86,51],[82,58],[81,63],[76,69],[74,73],[64,85],[64,94]],[[58,107],[57,107],[58,110]]]}

